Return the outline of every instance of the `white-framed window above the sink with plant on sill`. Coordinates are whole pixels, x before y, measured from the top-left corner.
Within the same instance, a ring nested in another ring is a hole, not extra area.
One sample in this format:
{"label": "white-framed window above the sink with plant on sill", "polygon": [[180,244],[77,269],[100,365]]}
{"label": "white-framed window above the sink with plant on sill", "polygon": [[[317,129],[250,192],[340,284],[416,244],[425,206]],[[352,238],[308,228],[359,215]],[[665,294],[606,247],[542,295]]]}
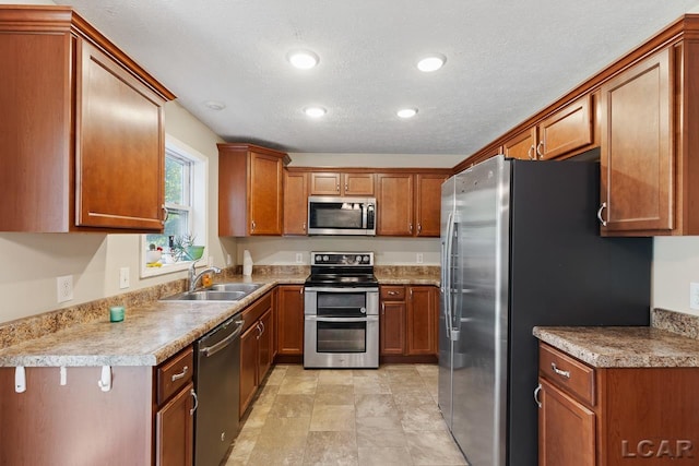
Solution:
{"label": "white-framed window above the sink with plant on sill", "polygon": [[165,142],[165,207],[167,219],[162,235],[143,235],[141,276],[185,270],[191,251],[187,241],[204,246],[206,258],[206,157],[175,138]]}

